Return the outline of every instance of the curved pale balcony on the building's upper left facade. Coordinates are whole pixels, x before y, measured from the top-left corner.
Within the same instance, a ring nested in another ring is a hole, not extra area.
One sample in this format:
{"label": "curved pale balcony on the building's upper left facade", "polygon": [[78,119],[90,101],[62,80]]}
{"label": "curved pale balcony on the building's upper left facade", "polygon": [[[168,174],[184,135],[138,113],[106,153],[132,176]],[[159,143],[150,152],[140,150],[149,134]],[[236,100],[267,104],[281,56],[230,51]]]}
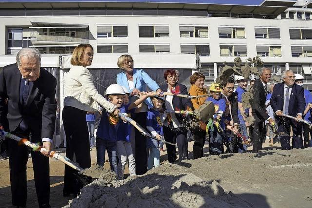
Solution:
{"label": "curved pale balcony on the building's upper left facade", "polygon": [[70,34],[56,33],[55,35],[42,35],[34,32],[31,33],[30,40],[33,45],[89,43],[89,31]]}

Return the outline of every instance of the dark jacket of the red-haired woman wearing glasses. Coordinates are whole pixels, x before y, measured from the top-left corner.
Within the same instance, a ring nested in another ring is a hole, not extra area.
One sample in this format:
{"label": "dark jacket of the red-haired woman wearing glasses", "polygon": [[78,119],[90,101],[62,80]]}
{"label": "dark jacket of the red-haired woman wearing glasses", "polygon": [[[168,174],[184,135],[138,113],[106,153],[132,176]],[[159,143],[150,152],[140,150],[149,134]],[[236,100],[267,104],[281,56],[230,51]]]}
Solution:
{"label": "dark jacket of the red-haired woman wearing glasses", "polygon": [[[187,88],[185,85],[177,83],[176,87],[180,88],[181,94],[188,95]],[[161,86],[161,90],[163,92],[167,92],[168,84]],[[189,99],[178,97],[175,95],[172,98],[172,105],[173,105],[175,111],[188,110],[188,109],[193,110],[193,104]]]}

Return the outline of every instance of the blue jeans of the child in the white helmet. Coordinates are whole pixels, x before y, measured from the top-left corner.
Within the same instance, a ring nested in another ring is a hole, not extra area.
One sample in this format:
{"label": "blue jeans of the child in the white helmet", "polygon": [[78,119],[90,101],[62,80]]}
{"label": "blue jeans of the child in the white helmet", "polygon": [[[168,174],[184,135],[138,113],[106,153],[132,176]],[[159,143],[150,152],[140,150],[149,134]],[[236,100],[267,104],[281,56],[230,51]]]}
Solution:
{"label": "blue jeans of the child in the white helmet", "polygon": [[103,140],[97,137],[97,164],[104,166],[105,163],[105,150],[108,154],[108,161],[111,167],[111,170],[117,174],[117,146],[116,142],[111,142]]}

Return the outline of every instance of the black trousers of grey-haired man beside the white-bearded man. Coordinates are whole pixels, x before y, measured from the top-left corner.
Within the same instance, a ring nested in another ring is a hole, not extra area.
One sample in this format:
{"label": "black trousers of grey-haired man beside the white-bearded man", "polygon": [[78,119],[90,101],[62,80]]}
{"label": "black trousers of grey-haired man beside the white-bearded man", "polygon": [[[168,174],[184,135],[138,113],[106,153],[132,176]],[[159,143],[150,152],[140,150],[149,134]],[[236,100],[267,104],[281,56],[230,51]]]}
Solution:
{"label": "black trousers of grey-haired man beside the white-bearded man", "polygon": [[254,124],[249,127],[249,131],[250,135],[252,135],[253,150],[262,150],[262,142],[266,134],[265,122],[254,122]]}

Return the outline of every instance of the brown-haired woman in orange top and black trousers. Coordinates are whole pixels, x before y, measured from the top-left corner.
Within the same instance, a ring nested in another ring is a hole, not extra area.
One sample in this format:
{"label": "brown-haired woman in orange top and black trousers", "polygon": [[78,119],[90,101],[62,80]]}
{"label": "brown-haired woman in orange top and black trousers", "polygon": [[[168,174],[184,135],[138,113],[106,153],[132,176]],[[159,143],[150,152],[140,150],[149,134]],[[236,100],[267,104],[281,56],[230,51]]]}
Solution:
{"label": "brown-haired woman in orange top and black trousers", "polygon": [[[205,83],[205,76],[200,72],[195,72],[190,77],[190,95],[192,96],[200,96],[200,95],[207,95],[207,90],[204,88]],[[199,97],[197,99],[192,99],[192,104],[194,109],[199,109],[199,107],[204,104],[207,97]],[[201,128],[196,128],[192,131],[194,144],[193,144],[193,158],[197,159],[203,157],[204,151],[203,147],[205,144],[206,138],[206,131],[202,130]]]}

